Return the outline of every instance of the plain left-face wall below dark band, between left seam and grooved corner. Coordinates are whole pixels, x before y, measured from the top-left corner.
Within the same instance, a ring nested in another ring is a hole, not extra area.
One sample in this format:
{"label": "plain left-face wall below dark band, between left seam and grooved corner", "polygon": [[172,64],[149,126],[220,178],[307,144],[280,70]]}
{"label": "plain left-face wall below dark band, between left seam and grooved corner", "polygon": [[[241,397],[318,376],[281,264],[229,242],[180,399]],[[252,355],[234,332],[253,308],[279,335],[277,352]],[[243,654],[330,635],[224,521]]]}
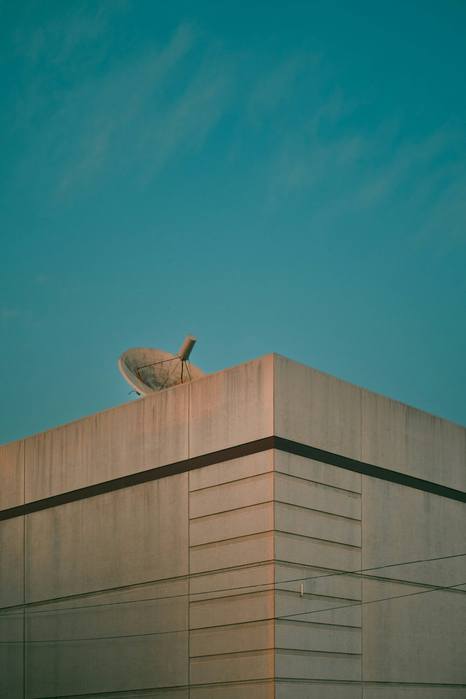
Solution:
{"label": "plain left-face wall below dark band, between left seam and grooved corner", "polygon": [[28,698],[188,683],[187,484],[183,473],[27,516]]}

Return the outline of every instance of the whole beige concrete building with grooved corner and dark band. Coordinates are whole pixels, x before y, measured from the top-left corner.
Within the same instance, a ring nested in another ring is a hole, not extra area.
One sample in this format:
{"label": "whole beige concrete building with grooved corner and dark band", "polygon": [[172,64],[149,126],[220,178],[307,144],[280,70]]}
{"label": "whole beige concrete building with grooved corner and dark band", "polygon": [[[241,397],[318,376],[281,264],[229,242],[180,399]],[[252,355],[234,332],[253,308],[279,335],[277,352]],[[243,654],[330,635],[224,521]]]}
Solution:
{"label": "whole beige concrete building with grooved corner and dark band", "polygon": [[0,447],[1,698],[465,698],[465,437],[270,354]]}

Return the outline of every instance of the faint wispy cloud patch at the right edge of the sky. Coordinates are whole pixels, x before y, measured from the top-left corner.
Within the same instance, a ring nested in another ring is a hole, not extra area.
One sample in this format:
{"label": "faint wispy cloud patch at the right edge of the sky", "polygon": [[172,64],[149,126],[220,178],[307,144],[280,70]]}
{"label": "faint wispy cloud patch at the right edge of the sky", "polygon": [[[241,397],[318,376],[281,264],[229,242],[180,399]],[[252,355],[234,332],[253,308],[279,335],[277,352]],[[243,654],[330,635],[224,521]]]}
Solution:
{"label": "faint wispy cloud patch at the right edge of the sky", "polygon": [[335,92],[316,104],[307,122],[284,134],[270,154],[268,208],[310,198],[312,217],[334,222],[348,213],[390,208],[399,219],[392,232],[413,250],[433,246],[439,257],[466,242],[465,131],[445,124],[407,138],[393,117],[371,130],[348,127],[358,104],[346,102]]}

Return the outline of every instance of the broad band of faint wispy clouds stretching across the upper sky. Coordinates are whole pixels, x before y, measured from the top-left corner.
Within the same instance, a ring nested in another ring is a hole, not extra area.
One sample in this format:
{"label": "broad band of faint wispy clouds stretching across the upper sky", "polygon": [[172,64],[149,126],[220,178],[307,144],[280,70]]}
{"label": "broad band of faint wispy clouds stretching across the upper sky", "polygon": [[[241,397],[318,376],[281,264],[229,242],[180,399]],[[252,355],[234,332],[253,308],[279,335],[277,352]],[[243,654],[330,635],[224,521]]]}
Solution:
{"label": "broad band of faint wispy clouds stretching across the upper sky", "polygon": [[[363,126],[374,95],[349,94],[325,55],[306,47],[281,59],[265,48],[246,55],[194,23],[180,24],[165,44],[146,41],[115,58],[109,28],[128,8],[83,3],[17,36],[29,92],[13,121],[34,139],[22,176],[41,172],[35,187],[45,201],[68,201],[126,171],[143,184],[201,152],[228,117],[236,127],[225,151],[236,159],[242,134],[251,143],[254,133],[270,133],[254,164],[266,210],[307,200],[311,217],[357,216],[395,198],[414,247],[463,240],[464,129],[439,124],[407,136],[400,113]],[[59,78],[49,84],[54,71]]]}

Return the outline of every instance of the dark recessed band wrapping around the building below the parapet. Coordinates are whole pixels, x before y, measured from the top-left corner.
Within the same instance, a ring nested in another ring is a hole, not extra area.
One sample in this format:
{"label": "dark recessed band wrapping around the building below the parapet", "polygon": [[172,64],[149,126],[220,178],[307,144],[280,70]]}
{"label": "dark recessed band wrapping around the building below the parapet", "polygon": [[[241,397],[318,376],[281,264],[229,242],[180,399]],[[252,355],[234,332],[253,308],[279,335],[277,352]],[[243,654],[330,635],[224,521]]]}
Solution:
{"label": "dark recessed band wrapping around the building below the parapet", "polygon": [[131,473],[130,475],[105,481],[104,483],[96,483],[95,485],[89,485],[85,488],[68,491],[68,493],[54,495],[51,498],[43,498],[43,500],[35,500],[33,503],[10,507],[8,510],[0,510],[0,521],[12,519],[13,517],[22,517],[24,514],[31,514],[32,512],[48,510],[50,507],[57,507],[58,505],[65,505],[66,503],[74,503],[76,500],[85,500],[86,498],[92,498],[96,495],[111,493],[112,491],[129,488],[140,483],[148,483],[150,481],[159,480],[159,478],[176,475],[177,473],[186,473],[187,471],[202,468],[203,466],[212,466],[214,463],[231,461],[231,459],[238,459],[240,456],[267,452],[269,449],[279,449],[281,452],[289,452],[289,454],[296,454],[296,456],[304,456],[306,459],[328,463],[330,466],[338,466],[349,471],[354,471],[355,473],[362,473],[363,475],[372,476],[373,478],[379,478],[391,483],[398,483],[409,488],[415,488],[425,493],[433,493],[434,495],[449,498],[450,500],[459,500],[461,503],[466,503],[466,493],[463,491],[447,488],[444,485],[432,483],[422,478],[415,478],[414,476],[405,475],[405,473],[392,471],[388,468],[381,468],[380,466],[372,466],[370,463],[349,459],[347,456],[325,452],[323,449],[308,447],[299,442],[292,442],[291,440],[274,436],[258,439],[254,442],[247,442],[237,447],[220,449],[219,452],[203,454],[203,456],[193,456],[192,459],[184,459],[184,461],[169,463],[166,466],[157,466],[156,468],[150,468],[140,473]]}

